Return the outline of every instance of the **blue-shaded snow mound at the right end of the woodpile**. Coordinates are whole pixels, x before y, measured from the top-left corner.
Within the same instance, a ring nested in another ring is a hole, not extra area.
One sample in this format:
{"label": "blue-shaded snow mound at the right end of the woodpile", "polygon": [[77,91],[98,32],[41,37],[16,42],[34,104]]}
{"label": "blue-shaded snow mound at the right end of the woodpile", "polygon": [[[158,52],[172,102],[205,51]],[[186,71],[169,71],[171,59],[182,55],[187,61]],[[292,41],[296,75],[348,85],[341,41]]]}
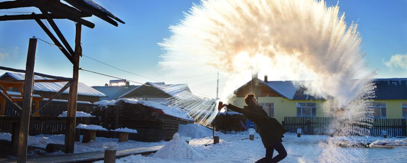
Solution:
{"label": "blue-shaded snow mound at the right end of the woodpile", "polygon": [[196,139],[213,136],[212,129],[200,124],[180,124],[178,126],[178,133],[183,137],[191,137]]}

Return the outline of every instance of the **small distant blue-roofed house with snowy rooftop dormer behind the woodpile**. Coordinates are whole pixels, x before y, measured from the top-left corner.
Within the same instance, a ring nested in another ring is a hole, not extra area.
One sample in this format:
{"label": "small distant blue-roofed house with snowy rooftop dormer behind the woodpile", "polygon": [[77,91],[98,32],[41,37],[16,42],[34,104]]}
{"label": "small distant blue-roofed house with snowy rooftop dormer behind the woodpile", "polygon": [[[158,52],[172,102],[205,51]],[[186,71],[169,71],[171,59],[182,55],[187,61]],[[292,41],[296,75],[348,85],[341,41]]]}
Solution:
{"label": "small distant blue-roofed house with snowy rooftop dormer behind the woodpile", "polygon": [[104,93],[107,97],[101,97],[100,100],[117,100],[124,94],[136,89],[139,86],[130,85],[126,80],[110,80],[109,85],[93,86],[95,90]]}

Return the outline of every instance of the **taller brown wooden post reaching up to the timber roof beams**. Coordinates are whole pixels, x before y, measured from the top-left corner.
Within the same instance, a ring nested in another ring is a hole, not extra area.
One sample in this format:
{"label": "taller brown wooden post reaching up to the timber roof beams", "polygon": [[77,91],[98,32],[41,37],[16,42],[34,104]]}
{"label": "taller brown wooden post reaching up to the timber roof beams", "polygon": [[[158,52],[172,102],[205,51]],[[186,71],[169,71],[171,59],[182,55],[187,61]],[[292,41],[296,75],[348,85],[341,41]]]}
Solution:
{"label": "taller brown wooden post reaching up to the timber roof beams", "polygon": [[75,52],[73,55],[73,84],[69,88],[68,97],[68,123],[65,134],[65,153],[73,153],[75,146],[75,127],[76,127],[76,102],[78,98],[78,78],[79,78],[79,56],[82,56],[82,47],[80,46],[81,24],[76,23]]}

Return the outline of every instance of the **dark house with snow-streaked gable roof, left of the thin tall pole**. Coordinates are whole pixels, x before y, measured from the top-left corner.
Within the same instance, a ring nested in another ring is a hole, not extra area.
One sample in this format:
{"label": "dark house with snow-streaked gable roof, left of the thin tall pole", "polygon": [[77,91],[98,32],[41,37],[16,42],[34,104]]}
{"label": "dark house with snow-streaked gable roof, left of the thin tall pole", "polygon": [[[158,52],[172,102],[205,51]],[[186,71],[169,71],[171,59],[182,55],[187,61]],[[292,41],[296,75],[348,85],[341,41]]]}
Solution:
{"label": "dark house with snow-streaked gable roof, left of the thin tall pole", "polygon": [[123,94],[119,98],[141,99],[167,105],[179,105],[189,101],[201,100],[192,94],[186,84],[165,84],[147,82]]}

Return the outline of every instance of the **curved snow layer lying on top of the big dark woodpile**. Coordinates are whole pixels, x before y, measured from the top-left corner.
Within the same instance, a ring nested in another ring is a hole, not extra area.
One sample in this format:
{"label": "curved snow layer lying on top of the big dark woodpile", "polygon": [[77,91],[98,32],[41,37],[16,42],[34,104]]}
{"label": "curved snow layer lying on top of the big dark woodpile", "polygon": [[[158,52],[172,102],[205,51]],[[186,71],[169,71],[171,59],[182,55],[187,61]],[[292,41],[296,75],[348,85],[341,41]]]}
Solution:
{"label": "curved snow layer lying on top of the big dark woodpile", "polygon": [[129,99],[129,98],[119,98],[118,100],[102,100],[98,102],[94,102],[94,104],[97,104],[99,106],[107,106],[107,105],[121,105],[123,102],[125,103],[132,103],[132,104],[142,104],[144,106],[156,108],[159,110],[162,110],[164,114],[170,115],[173,117],[178,117],[182,118],[185,120],[190,120],[193,121],[194,119],[182,108],[178,108],[175,106],[169,106],[169,105],[164,105],[160,104],[157,102],[153,101],[144,101],[144,100],[136,100],[136,99]]}

